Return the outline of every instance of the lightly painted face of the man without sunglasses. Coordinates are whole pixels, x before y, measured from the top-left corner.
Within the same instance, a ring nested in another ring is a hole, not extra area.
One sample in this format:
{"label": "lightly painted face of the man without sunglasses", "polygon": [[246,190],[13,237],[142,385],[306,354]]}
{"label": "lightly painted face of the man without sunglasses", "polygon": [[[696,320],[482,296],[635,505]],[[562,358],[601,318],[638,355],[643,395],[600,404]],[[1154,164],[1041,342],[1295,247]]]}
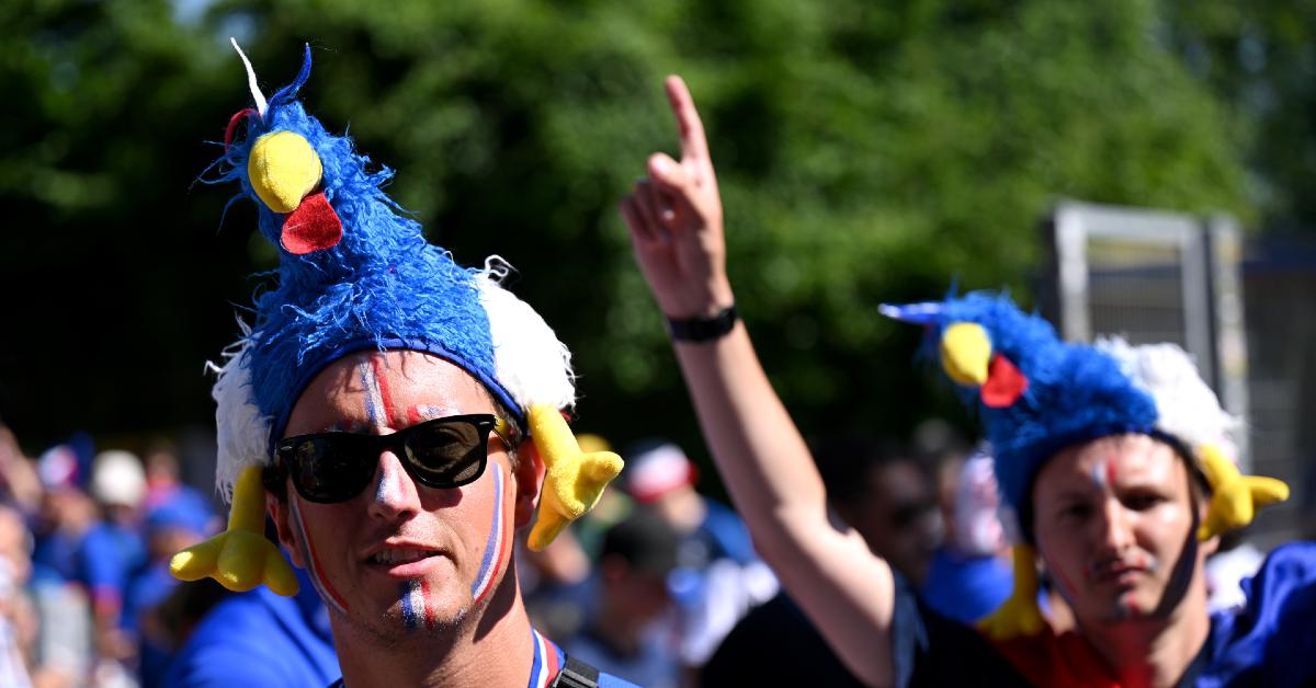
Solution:
{"label": "lightly painted face of the man without sunglasses", "polygon": [[[1148,435],[1066,449],[1033,485],[1038,551],[1080,622],[1111,624],[1175,608],[1200,575],[1183,459]],[[1188,556],[1190,560],[1180,560]]]}

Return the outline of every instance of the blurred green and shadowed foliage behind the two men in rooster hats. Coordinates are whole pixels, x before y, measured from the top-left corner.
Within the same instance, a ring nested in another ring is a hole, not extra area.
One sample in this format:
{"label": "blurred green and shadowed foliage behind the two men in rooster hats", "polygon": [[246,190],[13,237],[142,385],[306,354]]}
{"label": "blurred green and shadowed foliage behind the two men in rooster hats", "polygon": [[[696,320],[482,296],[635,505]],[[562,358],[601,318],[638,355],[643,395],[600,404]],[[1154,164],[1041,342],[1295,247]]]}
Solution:
{"label": "blurred green and shadowed foliage behind the two men in rooster hats", "polygon": [[703,113],[732,279],[787,405],[807,433],[904,434],[954,404],[876,304],[955,282],[1029,301],[1057,199],[1316,213],[1312,3],[1288,5],[11,1],[0,417],[29,442],[209,422],[201,362],[275,260],[249,204],[225,216],[234,189],[193,183],[249,100],[230,34],[267,93],[309,42],[308,109],[399,170],[393,197],[459,262],[520,268],[576,354],[580,429],[701,451],[615,210],[649,153],[675,153],[666,74]]}

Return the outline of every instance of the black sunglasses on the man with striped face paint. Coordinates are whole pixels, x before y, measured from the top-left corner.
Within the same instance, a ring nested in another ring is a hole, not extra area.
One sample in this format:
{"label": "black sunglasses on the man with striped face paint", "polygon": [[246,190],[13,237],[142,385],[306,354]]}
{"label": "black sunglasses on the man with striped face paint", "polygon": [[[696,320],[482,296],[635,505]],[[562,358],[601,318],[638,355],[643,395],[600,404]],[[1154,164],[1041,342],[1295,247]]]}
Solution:
{"label": "black sunglasses on the man with striped face paint", "polygon": [[[504,445],[507,422],[491,413],[449,416],[416,424],[386,435],[315,433],[280,439],[278,470],[266,475],[266,487],[283,488],[283,476],[307,501],[346,501],[370,484],[379,455],[392,450],[413,480],[433,488],[454,488],[475,481],[488,463],[488,434]],[[511,446],[511,445],[508,445]]]}

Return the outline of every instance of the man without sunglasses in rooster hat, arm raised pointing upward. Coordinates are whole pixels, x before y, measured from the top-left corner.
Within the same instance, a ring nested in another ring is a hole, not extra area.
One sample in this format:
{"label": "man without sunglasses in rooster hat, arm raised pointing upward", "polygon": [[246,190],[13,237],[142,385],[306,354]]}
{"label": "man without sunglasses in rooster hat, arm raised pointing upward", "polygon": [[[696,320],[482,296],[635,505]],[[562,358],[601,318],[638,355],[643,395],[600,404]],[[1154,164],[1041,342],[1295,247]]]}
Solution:
{"label": "man without sunglasses in rooster hat, arm raised pointing upward", "polygon": [[[1275,550],[1248,605],[1208,616],[1203,562],[1220,533],[1287,497],[1241,475],[1233,420],[1171,345],[1065,343],[1007,297],[886,307],[983,420],[1019,514],[1013,596],[980,629],[937,616],[829,518],[808,449],[736,317],[722,208],[684,83],[667,82],[679,160],[654,154],[622,199],[704,437],[754,543],[870,685],[1309,685],[1316,546]],[[1037,610],[1044,567],[1073,610]]]}

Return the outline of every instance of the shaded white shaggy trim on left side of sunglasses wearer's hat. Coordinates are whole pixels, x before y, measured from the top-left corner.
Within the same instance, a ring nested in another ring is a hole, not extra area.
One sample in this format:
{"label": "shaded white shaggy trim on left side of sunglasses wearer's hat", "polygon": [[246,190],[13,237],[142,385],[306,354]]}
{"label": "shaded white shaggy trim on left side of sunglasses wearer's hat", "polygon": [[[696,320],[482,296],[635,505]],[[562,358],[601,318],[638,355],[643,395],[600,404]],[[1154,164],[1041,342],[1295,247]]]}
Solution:
{"label": "shaded white shaggy trim on left side of sunglasses wearer's hat", "polygon": [[215,397],[215,428],[218,441],[218,456],[215,466],[215,489],[224,503],[233,501],[233,483],[247,466],[265,466],[270,462],[270,418],[261,414],[251,397],[251,371],[243,364],[251,328],[238,318],[242,337],[229,345],[221,354],[224,366],[207,363],[218,378],[211,396]]}

